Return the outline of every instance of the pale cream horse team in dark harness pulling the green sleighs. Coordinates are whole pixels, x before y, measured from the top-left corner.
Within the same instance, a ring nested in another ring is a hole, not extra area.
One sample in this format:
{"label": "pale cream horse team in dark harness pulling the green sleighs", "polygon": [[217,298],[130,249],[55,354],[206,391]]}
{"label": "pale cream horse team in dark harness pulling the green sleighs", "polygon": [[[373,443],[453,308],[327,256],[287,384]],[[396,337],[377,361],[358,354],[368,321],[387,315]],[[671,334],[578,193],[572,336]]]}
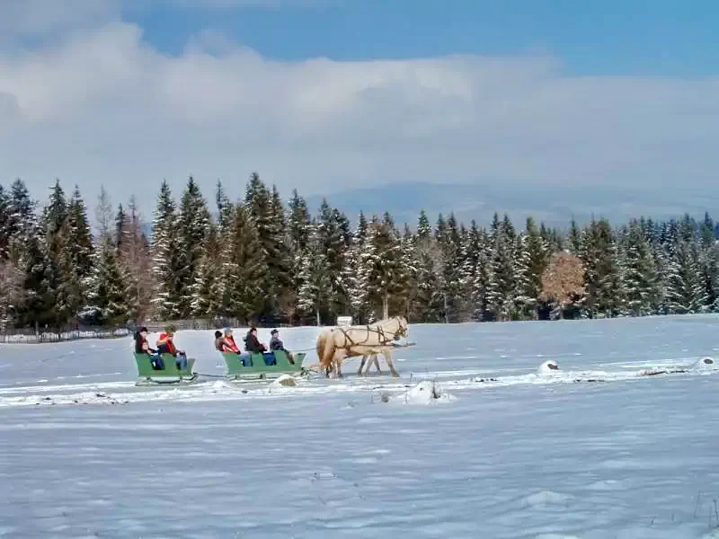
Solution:
{"label": "pale cream horse team in dark harness pulling the green sleighs", "polygon": [[[392,362],[394,341],[407,336],[408,324],[404,316],[395,316],[366,326],[326,329],[317,336],[316,350],[320,367],[330,377],[330,369],[342,378],[342,361],[358,356],[372,357],[382,354],[392,376],[399,376]],[[371,364],[371,359],[370,359]],[[377,368],[379,366],[377,365]]]}

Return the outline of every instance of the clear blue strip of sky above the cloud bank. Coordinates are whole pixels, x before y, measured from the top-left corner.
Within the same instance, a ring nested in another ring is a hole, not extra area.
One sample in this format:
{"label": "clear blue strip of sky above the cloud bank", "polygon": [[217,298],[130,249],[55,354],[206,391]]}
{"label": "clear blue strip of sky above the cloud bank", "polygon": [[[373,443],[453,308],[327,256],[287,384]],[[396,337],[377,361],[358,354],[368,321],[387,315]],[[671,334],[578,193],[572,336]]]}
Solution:
{"label": "clear blue strip of sky above the cloud bank", "polygon": [[126,10],[177,54],[203,28],[282,59],[551,51],[572,74],[714,75],[719,4],[708,0],[326,0],[314,6]]}

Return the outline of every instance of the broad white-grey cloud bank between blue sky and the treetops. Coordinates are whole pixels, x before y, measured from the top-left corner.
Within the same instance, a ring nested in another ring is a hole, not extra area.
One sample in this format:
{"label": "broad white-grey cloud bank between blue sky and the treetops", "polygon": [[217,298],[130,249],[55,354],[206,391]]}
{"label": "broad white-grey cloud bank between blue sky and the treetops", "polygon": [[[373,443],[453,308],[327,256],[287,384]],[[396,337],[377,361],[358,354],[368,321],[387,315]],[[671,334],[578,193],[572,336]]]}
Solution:
{"label": "broad white-grey cloud bank between blue sky and the treetops", "polygon": [[103,181],[148,210],[163,178],[179,192],[189,174],[211,199],[218,177],[240,194],[253,170],[285,193],[413,180],[680,192],[719,173],[717,79],[568,76],[548,56],[278,62],[209,37],[170,57],[108,22],[0,52],[0,181],[44,197],[58,176],[88,199]]}

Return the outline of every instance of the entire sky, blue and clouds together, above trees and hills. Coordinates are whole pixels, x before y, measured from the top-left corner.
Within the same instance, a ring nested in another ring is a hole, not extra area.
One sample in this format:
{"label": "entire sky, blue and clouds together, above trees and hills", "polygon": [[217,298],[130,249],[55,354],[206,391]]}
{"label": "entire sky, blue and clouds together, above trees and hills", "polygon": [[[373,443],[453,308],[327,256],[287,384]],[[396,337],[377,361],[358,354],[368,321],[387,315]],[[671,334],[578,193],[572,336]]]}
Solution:
{"label": "entire sky, blue and clouds together, above trees and hills", "polygon": [[0,183],[91,205],[102,183],[148,217],[163,179],[238,197],[253,171],[285,196],[468,183],[487,196],[457,210],[600,214],[586,188],[701,211],[718,22],[706,0],[2,0]]}

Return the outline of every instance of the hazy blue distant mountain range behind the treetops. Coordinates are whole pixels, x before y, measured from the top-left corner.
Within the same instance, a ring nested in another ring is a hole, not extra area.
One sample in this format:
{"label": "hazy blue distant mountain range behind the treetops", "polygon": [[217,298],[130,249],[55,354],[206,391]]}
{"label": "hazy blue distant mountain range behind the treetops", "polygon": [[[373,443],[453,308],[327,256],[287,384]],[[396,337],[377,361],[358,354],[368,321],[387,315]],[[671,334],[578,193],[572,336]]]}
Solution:
{"label": "hazy blue distant mountain range behind the treetops", "polygon": [[[393,183],[381,187],[340,190],[326,195],[330,206],[343,211],[355,223],[359,211],[366,216],[382,216],[388,211],[398,227],[404,223],[414,228],[422,209],[430,222],[439,213],[454,212],[457,220],[469,225],[472,219],[481,226],[489,225],[496,211],[500,217],[506,212],[512,222],[523,227],[527,216],[534,216],[537,224],[568,228],[572,217],[579,225],[592,216],[607,217],[612,224],[625,223],[632,217],[652,217],[655,220],[679,218],[688,213],[702,218],[708,211],[719,209],[719,196],[711,192],[686,189],[679,197],[676,190],[632,189],[605,186],[504,186],[478,183],[434,184],[424,182]],[[322,195],[306,197],[307,207],[315,215],[322,204]],[[714,215],[719,217],[719,212]],[[152,225],[143,230],[151,237]]]}

